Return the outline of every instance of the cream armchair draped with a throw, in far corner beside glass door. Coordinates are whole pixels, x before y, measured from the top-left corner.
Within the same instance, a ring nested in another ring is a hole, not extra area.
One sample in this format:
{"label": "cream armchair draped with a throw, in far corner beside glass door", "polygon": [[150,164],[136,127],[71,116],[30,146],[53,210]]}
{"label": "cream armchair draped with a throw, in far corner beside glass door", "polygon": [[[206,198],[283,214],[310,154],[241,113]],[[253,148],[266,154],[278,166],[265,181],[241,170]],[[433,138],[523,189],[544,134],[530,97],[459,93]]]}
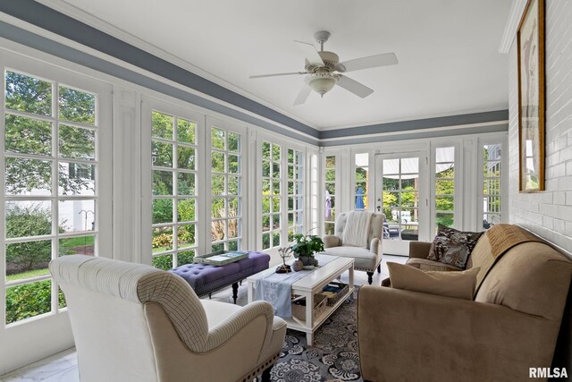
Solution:
{"label": "cream armchair draped with a throw, in far corner beside glass door", "polygon": [[[366,213],[366,212],[363,212]],[[374,271],[381,273],[383,250],[383,222],[385,216],[382,213],[374,213],[367,233],[367,244],[364,247],[345,245],[343,242],[344,231],[347,227],[348,213],[343,212],[336,218],[334,235],[324,236],[324,252],[327,255],[341,256],[356,259],[354,268],[367,272],[367,281],[372,284]]]}

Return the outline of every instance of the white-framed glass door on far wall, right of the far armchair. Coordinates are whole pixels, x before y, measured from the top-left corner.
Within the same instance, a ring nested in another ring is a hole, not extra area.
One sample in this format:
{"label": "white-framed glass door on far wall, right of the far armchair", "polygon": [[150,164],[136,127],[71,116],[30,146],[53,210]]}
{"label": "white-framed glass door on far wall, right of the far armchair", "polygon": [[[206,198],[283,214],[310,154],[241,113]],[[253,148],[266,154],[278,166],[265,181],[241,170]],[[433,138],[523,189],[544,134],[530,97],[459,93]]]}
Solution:
{"label": "white-framed glass door on far wall, right of the far armchair", "polygon": [[375,211],[383,212],[383,253],[408,255],[409,242],[426,240],[429,228],[425,152],[375,157]]}

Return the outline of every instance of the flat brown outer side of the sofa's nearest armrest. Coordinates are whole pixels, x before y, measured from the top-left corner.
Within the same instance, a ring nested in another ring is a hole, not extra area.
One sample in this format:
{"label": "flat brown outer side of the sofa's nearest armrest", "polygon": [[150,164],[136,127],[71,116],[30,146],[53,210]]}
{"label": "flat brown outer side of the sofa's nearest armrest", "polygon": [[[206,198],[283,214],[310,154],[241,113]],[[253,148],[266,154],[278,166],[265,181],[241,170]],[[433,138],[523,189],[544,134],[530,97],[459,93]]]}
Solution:
{"label": "flat brown outer side of the sofa's nearest armrest", "polygon": [[529,368],[551,366],[557,324],[501,305],[366,285],[357,297],[362,377],[525,380]]}

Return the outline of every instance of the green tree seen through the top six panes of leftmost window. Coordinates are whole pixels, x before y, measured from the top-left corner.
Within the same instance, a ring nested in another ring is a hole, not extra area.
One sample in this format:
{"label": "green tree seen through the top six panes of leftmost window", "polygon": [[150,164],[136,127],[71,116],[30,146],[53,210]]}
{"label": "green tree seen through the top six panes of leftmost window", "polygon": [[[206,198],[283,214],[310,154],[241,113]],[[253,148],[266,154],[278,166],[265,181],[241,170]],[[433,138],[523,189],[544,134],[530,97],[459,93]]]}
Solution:
{"label": "green tree seen through the top six panes of leftmost window", "polygon": [[[41,81],[17,72],[6,72],[5,106],[8,110],[17,110],[32,115],[52,115],[53,84]],[[60,87],[58,110],[61,118],[80,122],[94,123],[95,96]],[[71,157],[93,157],[93,141],[86,139],[86,131],[69,128],[69,134],[63,134],[58,144],[61,154],[72,153]],[[52,126],[51,123],[38,119],[6,115],[5,117],[6,150],[21,154],[51,156]],[[66,151],[67,150],[67,151]],[[60,164],[58,176],[59,186],[64,194],[78,193],[88,186],[90,179],[77,176],[74,171],[67,171]],[[5,190],[8,193],[21,193],[32,190],[50,190],[52,165],[49,160],[11,158],[6,161]]]}

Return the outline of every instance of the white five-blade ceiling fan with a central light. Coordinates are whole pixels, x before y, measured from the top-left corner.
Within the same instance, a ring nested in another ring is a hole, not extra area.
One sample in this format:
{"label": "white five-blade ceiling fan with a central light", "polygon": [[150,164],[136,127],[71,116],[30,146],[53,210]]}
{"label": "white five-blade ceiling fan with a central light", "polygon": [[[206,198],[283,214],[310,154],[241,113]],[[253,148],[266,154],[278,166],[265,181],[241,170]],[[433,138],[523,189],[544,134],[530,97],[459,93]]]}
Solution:
{"label": "white five-blade ceiling fan with a central light", "polygon": [[374,92],[355,80],[341,74],[345,72],[355,72],[362,69],[375,68],[398,64],[397,56],[394,53],[383,53],[381,55],[369,55],[367,57],[356,58],[354,60],[340,62],[340,57],[333,52],[324,50],[324,43],[330,38],[330,32],[320,30],[314,34],[315,41],[320,44],[318,52],[314,45],[302,41],[294,41],[306,55],[306,72],[286,72],[273,74],[259,74],[250,76],[251,79],[278,77],[288,75],[305,75],[306,83],[300,89],[298,97],[294,101],[294,106],[306,102],[308,96],[314,90],[324,97],[324,94],[332,90],[338,84],[341,88],[348,90],[358,97],[366,98]]}

